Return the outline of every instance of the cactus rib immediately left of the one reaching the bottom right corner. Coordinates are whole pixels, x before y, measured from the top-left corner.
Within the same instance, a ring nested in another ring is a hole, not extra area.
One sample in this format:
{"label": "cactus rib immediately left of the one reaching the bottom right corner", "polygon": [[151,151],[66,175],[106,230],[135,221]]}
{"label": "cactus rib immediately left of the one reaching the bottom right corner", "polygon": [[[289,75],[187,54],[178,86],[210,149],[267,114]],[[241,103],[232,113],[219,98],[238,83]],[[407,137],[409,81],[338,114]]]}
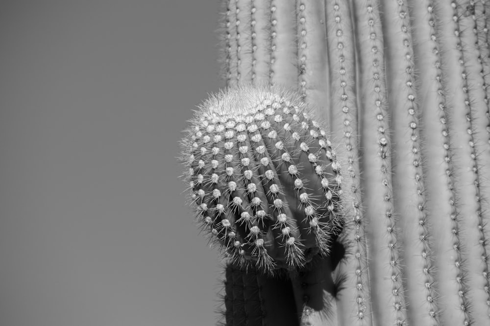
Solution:
{"label": "cactus rib immediately left of the one reaching the bottom right corner", "polygon": [[[465,316],[460,315],[461,307],[466,305],[466,299],[458,296],[462,289],[456,282],[459,275],[466,274],[461,252],[454,250],[454,244],[461,243],[459,212],[457,208],[456,194],[454,191],[454,166],[451,159],[454,157],[454,147],[451,141],[448,114],[449,100],[446,94],[446,76],[442,70],[443,59],[441,57],[441,21],[434,1],[425,1],[423,6],[414,7],[414,38],[418,40],[414,44],[416,54],[416,66],[423,73],[419,78],[417,98],[423,103],[421,117],[424,129],[421,130],[425,141],[423,157],[426,165],[423,166],[426,176],[426,191],[428,193],[427,217],[433,227],[434,248],[438,254],[435,256],[436,269],[428,269],[425,275],[432,276],[437,273],[439,284],[429,283],[435,286],[440,298],[453,309],[445,308],[441,313],[441,324],[454,323],[464,325]],[[437,207],[437,210],[434,208]],[[452,256],[455,255],[456,259]],[[459,263],[455,264],[455,261]],[[451,267],[449,267],[451,266]],[[431,301],[439,299],[428,297]],[[441,306],[441,309],[443,307]],[[436,311],[438,312],[438,311]]]}

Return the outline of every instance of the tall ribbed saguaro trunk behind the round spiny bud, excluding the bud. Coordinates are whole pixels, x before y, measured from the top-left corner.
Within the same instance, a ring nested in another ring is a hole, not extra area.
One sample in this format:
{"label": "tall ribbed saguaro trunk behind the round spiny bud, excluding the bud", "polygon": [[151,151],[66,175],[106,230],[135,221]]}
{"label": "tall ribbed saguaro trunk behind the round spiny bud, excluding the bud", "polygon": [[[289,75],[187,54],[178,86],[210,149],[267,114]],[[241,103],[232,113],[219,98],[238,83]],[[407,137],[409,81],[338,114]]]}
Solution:
{"label": "tall ribbed saguaro trunk behind the round spiny bud, excluding the bud", "polygon": [[299,315],[282,312],[304,325],[490,325],[490,1],[222,4],[226,85],[299,92],[343,171],[342,233],[294,265]]}

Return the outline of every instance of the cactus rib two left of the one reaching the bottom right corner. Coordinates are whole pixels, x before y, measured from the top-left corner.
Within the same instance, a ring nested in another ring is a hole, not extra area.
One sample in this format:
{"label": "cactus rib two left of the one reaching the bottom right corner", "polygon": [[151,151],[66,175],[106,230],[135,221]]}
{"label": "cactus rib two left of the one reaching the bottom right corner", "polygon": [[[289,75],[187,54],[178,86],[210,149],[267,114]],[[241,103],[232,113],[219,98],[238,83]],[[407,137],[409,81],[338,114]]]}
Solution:
{"label": "cactus rib two left of the one reaching the bottom right corner", "polygon": [[[439,325],[438,302],[435,298],[431,226],[426,215],[426,192],[423,181],[420,146],[420,114],[416,97],[416,76],[410,14],[403,1],[382,0],[384,39],[386,47],[388,102],[391,103],[393,153],[393,197],[399,212],[403,250],[404,282],[407,296],[407,317],[411,325]],[[422,276],[423,277],[420,277]],[[430,286],[427,286],[430,284]],[[425,313],[420,313],[425,303]]]}

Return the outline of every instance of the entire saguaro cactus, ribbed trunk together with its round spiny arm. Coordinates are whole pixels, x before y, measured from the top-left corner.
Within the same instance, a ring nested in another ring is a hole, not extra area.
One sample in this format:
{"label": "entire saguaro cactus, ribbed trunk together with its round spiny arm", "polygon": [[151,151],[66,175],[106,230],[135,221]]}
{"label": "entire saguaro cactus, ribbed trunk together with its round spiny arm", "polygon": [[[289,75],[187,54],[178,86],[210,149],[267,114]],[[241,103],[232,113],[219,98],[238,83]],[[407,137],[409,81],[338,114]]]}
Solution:
{"label": "entire saguaro cactus, ribbed trunk together with its round spiny arm", "polygon": [[[191,201],[226,284],[295,305],[226,286],[224,325],[490,325],[490,0],[221,8],[229,88],[183,141]],[[266,317],[243,324],[247,296]]]}

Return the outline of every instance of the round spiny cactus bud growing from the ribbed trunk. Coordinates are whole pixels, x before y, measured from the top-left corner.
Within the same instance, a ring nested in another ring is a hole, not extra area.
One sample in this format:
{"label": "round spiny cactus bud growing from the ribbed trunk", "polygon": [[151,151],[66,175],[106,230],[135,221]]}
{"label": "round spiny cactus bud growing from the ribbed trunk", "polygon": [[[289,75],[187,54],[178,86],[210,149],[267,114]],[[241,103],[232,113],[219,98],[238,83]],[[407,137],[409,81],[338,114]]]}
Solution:
{"label": "round spiny cactus bud growing from the ribbed trunk", "polygon": [[340,164],[301,96],[244,86],[213,95],[182,141],[197,221],[241,264],[303,266],[341,218]]}

